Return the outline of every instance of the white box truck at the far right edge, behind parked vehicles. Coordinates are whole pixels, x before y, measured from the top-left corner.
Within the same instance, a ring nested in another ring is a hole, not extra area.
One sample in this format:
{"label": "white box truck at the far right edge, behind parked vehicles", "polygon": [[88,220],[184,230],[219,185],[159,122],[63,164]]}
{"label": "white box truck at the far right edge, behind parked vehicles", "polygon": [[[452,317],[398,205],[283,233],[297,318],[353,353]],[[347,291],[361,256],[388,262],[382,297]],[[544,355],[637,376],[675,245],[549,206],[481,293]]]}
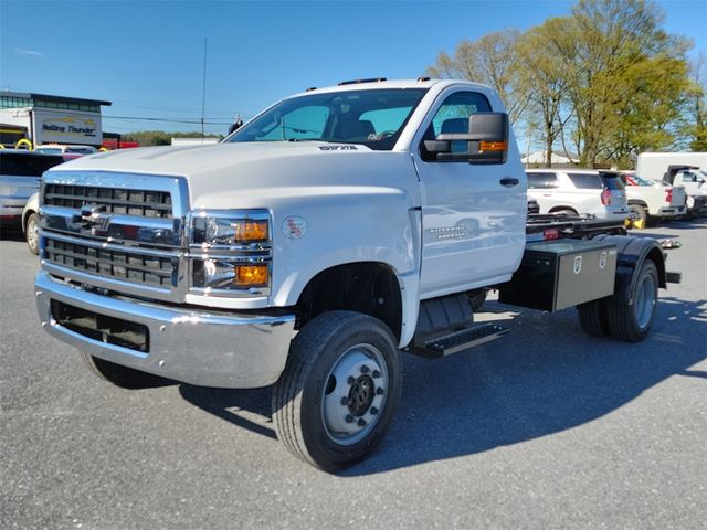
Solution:
{"label": "white box truck at the far right edge, behind parked vehicles", "polygon": [[707,215],[707,152],[642,152],[636,174],[685,188],[687,214]]}

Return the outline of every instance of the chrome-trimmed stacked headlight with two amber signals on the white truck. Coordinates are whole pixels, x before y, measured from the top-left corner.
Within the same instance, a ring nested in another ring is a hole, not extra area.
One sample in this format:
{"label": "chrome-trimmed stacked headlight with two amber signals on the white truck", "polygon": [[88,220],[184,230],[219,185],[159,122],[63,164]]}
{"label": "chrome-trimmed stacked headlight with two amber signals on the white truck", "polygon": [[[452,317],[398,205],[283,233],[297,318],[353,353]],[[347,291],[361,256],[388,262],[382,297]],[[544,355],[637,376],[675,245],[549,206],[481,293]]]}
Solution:
{"label": "chrome-trimmed stacked headlight with two amber signals on the white truck", "polygon": [[191,218],[191,285],[203,294],[266,294],[271,221],[266,211],[198,212]]}

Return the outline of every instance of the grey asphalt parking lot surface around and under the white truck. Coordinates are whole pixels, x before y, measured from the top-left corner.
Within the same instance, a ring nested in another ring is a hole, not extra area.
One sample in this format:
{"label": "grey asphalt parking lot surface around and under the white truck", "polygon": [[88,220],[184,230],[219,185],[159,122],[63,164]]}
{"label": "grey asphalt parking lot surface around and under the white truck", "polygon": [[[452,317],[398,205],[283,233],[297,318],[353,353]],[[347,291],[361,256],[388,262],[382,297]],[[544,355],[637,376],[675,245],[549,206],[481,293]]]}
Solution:
{"label": "grey asphalt parking lot surface around and under the white truck", "polygon": [[504,339],[404,358],[382,447],[338,476],[276,441],[270,394],[93,377],[35,315],[38,259],[0,237],[0,528],[705,528],[707,222],[678,237],[653,335],[493,300]]}

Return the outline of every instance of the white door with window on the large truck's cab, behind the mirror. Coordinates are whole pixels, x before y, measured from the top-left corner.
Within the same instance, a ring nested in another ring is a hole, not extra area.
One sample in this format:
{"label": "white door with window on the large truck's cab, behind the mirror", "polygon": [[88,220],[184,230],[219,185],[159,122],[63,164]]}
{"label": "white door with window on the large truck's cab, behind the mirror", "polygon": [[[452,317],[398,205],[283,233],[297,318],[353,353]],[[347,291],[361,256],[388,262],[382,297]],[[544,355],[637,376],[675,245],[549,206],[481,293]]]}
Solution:
{"label": "white door with window on the large truck's cab, behind the mirror", "polygon": [[[443,93],[415,138],[413,157],[422,197],[422,298],[505,282],[520,263],[526,176],[513,134],[504,163],[441,161],[428,156],[424,147],[424,140],[440,134],[467,131],[469,115],[490,110],[482,93]],[[466,150],[465,141],[452,142],[452,151]]]}

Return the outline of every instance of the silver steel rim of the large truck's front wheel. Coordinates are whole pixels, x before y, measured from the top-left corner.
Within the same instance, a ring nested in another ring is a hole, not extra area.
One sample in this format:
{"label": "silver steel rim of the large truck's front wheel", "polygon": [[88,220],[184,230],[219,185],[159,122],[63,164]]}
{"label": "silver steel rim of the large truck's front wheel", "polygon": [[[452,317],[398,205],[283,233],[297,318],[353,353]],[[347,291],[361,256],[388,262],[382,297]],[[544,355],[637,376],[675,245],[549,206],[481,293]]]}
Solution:
{"label": "silver steel rim of the large truck's front wheel", "polygon": [[338,445],[354,445],[378,424],[390,378],[383,354],[372,344],[356,344],[334,363],[321,391],[324,430]]}

